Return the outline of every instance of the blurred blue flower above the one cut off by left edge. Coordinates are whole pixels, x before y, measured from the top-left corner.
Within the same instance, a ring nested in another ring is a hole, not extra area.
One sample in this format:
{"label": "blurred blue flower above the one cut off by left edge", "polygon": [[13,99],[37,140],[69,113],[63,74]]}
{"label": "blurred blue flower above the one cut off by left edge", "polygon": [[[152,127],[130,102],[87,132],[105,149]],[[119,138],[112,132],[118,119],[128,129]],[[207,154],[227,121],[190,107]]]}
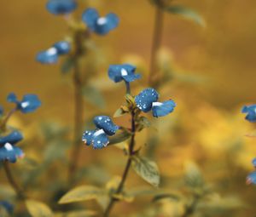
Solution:
{"label": "blurred blue flower above the one cut off by left edge", "polygon": [[38,109],[41,106],[41,101],[35,94],[26,94],[23,96],[21,101],[17,100],[16,95],[11,93],[8,95],[7,100],[9,102],[14,102],[17,105],[17,109],[22,113],[29,113]]}

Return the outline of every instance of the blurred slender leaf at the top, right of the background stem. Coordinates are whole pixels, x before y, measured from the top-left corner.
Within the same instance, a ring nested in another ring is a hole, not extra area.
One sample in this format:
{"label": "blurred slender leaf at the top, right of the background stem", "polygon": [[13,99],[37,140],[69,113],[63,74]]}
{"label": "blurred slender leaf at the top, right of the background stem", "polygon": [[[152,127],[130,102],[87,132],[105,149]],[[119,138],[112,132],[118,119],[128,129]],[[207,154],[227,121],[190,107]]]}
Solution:
{"label": "blurred slender leaf at the top, right of the background stem", "polygon": [[197,14],[193,9],[185,8],[182,5],[172,5],[164,8],[167,12],[171,14],[181,15],[183,18],[188,20],[193,20],[196,24],[205,27],[205,20],[200,14]]}

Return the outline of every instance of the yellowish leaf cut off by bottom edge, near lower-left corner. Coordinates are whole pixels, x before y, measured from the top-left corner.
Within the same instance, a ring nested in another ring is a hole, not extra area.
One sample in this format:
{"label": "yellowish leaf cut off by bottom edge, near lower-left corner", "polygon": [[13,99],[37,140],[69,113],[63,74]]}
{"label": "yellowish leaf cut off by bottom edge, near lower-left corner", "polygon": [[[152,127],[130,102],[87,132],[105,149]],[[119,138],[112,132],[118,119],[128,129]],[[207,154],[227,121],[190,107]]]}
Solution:
{"label": "yellowish leaf cut off by bottom edge, near lower-left corner", "polygon": [[35,200],[26,200],[26,208],[32,217],[50,217],[53,216],[50,208],[42,202]]}

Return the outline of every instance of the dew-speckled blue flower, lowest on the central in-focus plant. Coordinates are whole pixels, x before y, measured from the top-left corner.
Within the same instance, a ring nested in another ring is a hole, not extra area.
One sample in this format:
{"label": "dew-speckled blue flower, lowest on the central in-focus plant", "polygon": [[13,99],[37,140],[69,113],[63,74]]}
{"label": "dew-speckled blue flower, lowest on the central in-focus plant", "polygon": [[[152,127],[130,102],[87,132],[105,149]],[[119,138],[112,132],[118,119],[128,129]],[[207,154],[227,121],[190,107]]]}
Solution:
{"label": "dew-speckled blue flower, lowest on the central in-focus plant", "polygon": [[108,136],[115,134],[119,126],[115,125],[108,116],[96,116],[93,122],[96,129],[84,131],[82,140],[87,146],[92,145],[95,149],[108,146]]}

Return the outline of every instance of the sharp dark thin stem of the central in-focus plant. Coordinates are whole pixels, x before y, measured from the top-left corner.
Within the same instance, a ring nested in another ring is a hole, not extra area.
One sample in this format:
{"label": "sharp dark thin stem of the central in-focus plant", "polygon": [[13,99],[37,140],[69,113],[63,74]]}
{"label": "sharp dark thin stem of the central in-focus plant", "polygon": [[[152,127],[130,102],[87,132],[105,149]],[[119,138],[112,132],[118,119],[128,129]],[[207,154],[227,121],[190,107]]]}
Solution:
{"label": "sharp dark thin stem of the central in-focus plant", "polygon": [[[117,190],[115,191],[115,194],[119,194],[121,191],[123,191],[127,175],[128,175],[129,170],[131,168],[131,157],[134,155],[133,148],[135,146],[135,140],[134,140],[135,139],[135,134],[136,134],[135,130],[136,130],[136,128],[135,128],[135,112],[131,111],[131,142],[130,142],[130,145],[129,145],[129,157],[128,157],[126,165],[125,165],[125,170],[124,170],[124,173],[122,175],[122,180],[119,183],[119,186],[118,186]],[[108,203],[108,207],[106,208],[106,211],[103,215],[104,217],[109,216],[109,214],[110,214],[110,212],[113,208],[114,203],[117,202],[117,201],[118,201],[118,199],[116,199],[114,197],[111,197],[110,203]]]}

